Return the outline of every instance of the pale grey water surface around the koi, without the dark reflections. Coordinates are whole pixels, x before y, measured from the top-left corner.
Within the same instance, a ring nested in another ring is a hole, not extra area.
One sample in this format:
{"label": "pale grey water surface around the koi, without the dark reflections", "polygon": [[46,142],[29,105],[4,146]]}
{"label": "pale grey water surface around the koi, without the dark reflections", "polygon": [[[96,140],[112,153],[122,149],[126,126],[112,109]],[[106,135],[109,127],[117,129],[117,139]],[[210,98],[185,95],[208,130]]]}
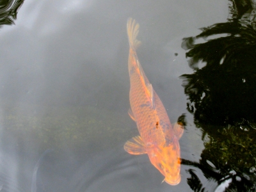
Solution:
{"label": "pale grey water surface around the koi, without the dark reflections", "polygon": [[[128,17],[140,24],[138,58],[170,121],[186,114],[181,157],[199,161],[202,132],[179,78],[193,72],[182,38],[226,22],[227,1],[26,0],[15,25],[0,29],[1,192],[193,191],[188,164],[170,186],[147,155],[124,151],[138,135],[127,113]],[[193,170],[209,191],[218,186]]]}

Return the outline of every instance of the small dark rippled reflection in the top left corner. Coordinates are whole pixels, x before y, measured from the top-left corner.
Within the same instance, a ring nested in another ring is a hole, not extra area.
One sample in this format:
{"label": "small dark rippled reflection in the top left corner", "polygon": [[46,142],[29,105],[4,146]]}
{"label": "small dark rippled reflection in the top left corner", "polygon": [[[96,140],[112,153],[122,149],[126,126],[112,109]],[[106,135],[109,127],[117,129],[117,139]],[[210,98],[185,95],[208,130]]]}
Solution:
{"label": "small dark rippled reflection in the top left corner", "polygon": [[17,13],[24,0],[3,0],[0,1],[0,28],[3,25],[12,25],[17,19]]}

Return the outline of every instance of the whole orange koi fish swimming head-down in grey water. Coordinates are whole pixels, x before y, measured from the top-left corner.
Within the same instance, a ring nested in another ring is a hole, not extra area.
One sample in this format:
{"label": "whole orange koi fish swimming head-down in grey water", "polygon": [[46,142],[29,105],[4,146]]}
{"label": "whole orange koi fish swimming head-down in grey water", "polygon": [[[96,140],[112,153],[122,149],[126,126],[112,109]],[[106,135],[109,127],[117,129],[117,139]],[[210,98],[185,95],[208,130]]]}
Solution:
{"label": "whole orange koi fish swimming head-down in grey water", "polygon": [[135,136],[124,145],[129,154],[148,154],[150,162],[164,175],[170,185],[180,182],[180,146],[179,138],[183,134],[182,123],[173,127],[163,103],[148,81],[138,60],[136,49],[141,44],[136,39],[139,24],[134,19],[127,20],[129,38],[129,77],[130,105],[128,113],[136,122],[140,136]]}

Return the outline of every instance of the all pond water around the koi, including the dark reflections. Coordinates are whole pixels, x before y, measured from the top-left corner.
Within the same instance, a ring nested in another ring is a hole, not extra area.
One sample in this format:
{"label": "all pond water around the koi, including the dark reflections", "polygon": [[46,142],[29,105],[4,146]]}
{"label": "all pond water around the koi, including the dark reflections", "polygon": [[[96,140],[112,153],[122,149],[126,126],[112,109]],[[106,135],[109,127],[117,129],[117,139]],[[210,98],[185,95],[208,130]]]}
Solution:
{"label": "all pond water around the koi, including the dark reflections", "polygon": [[[0,191],[255,191],[254,3],[19,4],[0,29]],[[129,17],[141,67],[184,125],[175,186],[124,150],[139,134],[127,113]]]}

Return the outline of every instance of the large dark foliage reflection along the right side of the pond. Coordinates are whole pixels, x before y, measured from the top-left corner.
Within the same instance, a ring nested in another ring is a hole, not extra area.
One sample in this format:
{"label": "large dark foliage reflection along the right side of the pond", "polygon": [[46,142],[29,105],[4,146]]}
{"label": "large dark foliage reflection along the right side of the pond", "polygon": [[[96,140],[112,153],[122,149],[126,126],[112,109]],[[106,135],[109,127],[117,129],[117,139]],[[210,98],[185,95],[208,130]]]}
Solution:
{"label": "large dark foliage reflection along the right side of the pond", "polygon": [[[229,1],[228,22],[202,28],[184,38],[193,74],[184,74],[188,111],[202,128],[205,149],[199,168],[216,191],[255,191],[256,179],[256,1]],[[204,43],[196,42],[200,39]],[[204,65],[204,67],[200,67]],[[194,191],[207,191],[194,169],[188,170]]]}

